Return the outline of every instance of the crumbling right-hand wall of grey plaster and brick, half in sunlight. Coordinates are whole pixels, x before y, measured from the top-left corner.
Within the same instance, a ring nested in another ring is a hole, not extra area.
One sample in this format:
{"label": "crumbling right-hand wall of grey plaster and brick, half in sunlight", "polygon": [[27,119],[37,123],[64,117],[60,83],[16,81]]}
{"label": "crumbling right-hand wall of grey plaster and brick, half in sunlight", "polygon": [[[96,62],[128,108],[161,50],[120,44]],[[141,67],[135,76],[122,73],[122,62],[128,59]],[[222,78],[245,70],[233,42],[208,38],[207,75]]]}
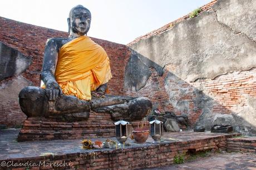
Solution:
{"label": "crumbling right-hand wall of grey plaster and brick, half in sunlight", "polygon": [[[129,83],[135,82],[134,76],[125,76],[125,89],[143,96],[154,91],[156,95],[149,97],[154,97],[155,106],[188,114],[191,127],[198,124],[209,130],[214,123],[230,123],[246,135],[256,134],[255,13],[254,1],[218,0],[195,18],[130,43],[144,66],[128,63],[126,70],[134,70],[134,75],[140,70],[149,78],[137,89]],[[149,73],[150,67],[163,69],[163,75]],[[167,97],[157,95],[163,87]]]}

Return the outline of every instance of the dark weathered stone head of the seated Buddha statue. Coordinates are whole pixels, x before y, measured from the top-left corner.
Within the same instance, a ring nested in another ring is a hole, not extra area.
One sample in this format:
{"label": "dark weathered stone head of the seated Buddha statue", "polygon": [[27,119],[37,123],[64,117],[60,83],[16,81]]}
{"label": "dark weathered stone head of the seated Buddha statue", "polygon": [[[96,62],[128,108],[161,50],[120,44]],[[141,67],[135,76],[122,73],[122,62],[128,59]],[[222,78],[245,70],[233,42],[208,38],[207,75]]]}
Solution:
{"label": "dark weathered stone head of the seated Buddha statue", "polygon": [[81,5],[73,7],[70,10],[67,23],[70,35],[76,35],[76,37],[85,35],[90,29],[91,12]]}

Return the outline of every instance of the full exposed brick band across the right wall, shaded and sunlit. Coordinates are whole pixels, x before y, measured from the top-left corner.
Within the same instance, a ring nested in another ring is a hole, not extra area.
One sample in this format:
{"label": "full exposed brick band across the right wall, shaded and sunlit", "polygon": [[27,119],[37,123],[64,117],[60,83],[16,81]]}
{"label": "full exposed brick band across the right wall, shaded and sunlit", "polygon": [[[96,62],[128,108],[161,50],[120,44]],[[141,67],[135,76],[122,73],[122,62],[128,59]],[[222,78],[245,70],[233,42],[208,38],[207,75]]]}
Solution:
{"label": "full exposed brick band across the right wall, shaded and sunlit", "polygon": [[[137,92],[127,90],[126,95],[149,97],[153,105],[161,112],[174,111],[177,115],[188,114],[190,126],[195,125],[204,108],[209,109],[212,114],[239,113],[249,106],[248,96],[256,97],[256,68],[234,71],[220,75],[213,80],[199,79],[194,83],[175,77],[168,81],[168,86],[165,86],[168,68],[167,65],[163,76],[158,76],[156,70],[151,68],[152,74],[146,85]],[[197,96],[198,92],[195,91],[198,90],[202,91],[201,96]],[[188,102],[188,109],[182,110],[173,106],[173,98],[170,95],[175,96],[178,102]],[[202,99],[201,104],[197,104],[196,97],[207,97],[212,102],[207,105]]]}

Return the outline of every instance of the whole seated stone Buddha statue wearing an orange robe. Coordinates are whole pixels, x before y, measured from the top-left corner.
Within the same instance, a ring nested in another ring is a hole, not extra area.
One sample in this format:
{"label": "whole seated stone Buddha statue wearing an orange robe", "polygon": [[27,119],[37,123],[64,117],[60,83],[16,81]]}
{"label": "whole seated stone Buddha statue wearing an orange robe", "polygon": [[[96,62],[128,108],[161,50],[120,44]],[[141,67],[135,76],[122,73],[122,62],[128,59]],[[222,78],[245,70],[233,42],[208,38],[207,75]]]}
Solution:
{"label": "whole seated stone Buddha statue wearing an orange robe", "polygon": [[110,60],[105,50],[87,37],[90,11],[81,5],[73,7],[67,22],[67,38],[47,40],[41,87],[28,86],[19,93],[24,114],[86,120],[95,111],[109,112],[112,120],[127,121],[148,115],[152,104],[146,97],[105,95],[112,78]]}

